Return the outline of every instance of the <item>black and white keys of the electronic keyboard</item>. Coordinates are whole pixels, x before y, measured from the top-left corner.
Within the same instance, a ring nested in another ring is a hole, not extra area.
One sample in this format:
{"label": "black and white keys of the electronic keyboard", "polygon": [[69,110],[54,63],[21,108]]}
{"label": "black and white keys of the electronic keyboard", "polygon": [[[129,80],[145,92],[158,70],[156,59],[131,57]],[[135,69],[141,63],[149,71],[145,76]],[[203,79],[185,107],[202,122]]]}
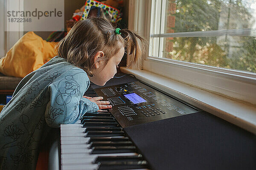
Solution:
{"label": "black and white keys of the electronic keyboard", "polygon": [[111,114],[90,114],[76,124],[61,125],[61,170],[148,170],[148,162]]}

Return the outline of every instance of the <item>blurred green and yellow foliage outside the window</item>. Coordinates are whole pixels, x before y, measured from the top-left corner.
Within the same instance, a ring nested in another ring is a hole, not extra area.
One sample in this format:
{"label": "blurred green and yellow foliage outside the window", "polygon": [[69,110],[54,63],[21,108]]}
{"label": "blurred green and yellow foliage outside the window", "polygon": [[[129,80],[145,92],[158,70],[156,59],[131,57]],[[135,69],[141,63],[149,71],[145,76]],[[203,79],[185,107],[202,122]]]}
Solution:
{"label": "blurred green and yellow foliage outside the window", "polygon": [[[167,0],[167,3],[176,3],[175,14],[166,12],[166,16],[175,16],[175,28],[166,27],[174,32],[251,28],[255,23],[243,0]],[[180,37],[164,41],[173,43],[172,51],[163,51],[165,58],[256,73],[255,37]]]}

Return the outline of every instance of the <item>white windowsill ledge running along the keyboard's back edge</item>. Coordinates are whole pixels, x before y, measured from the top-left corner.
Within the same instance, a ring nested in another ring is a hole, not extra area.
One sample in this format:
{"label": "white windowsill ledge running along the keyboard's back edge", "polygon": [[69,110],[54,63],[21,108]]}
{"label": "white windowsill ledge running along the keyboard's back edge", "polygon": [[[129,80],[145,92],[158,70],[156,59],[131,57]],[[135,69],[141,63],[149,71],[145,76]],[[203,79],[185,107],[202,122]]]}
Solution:
{"label": "white windowsill ledge running along the keyboard's back edge", "polygon": [[120,69],[123,73],[134,74],[143,82],[256,134],[256,107],[254,105],[234,101],[149,71],[125,67]]}

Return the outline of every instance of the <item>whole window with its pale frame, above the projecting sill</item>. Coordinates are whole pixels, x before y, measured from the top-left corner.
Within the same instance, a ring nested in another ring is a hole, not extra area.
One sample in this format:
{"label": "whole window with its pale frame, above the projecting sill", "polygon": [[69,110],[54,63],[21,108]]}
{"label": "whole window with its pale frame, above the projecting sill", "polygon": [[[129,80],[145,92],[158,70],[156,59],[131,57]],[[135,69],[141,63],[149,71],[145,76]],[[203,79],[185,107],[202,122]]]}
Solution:
{"label": "whole window with its pale frame, above the projecting sill", "polygon": [[255,105],[254,3],[129,0],[129,29],[149,40],[143,70]]}

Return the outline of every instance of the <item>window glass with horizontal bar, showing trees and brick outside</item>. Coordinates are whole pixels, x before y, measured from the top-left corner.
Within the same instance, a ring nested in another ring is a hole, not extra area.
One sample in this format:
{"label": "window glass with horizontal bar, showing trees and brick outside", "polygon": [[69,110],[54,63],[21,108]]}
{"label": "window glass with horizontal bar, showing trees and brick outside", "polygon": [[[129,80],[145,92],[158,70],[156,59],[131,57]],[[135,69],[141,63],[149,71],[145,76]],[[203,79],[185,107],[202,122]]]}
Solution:
{"label": "window glass with horizontal bar, showing trees and brick outside", "polygon": [[150,56],[256,73],[254,0],[153,0]]}

